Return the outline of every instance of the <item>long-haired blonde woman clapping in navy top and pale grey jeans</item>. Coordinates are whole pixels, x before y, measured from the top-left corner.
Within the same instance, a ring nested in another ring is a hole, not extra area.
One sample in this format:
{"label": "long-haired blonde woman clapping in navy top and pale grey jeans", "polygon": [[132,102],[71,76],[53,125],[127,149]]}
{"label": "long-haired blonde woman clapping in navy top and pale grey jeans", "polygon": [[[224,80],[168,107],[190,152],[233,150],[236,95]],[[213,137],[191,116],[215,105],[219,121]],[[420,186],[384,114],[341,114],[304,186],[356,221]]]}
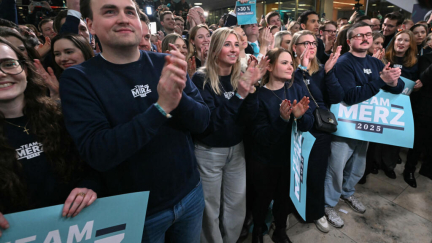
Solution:
{"label": "long-haired blonde woman clapping in navy top and pale grey jeans", "polygon": [[[258,109],[254,84],[265,60],[240,76],[240,38],[229,28],[213,33],[205,66],[192,78],[211,111],[210,124],[195,136],[205,209],[201,242],[236,242],[246,213],[243,134]],[[221,226],[221,227],[220,227]]]}

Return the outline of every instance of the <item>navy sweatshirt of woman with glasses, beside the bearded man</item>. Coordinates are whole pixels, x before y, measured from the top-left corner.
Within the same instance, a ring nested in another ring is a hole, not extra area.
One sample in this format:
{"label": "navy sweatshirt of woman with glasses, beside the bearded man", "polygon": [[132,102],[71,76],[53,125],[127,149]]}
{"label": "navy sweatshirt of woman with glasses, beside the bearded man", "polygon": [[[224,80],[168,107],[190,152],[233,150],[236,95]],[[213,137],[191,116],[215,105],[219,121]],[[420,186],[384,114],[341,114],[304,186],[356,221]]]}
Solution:
{"label": "navy sweatshirt of woman with glasses, beside the bearded man", "polygon": [[[325,73],[324,65],[320,64],[319,70],[309,75],[308,72],[297,68],[294,73],[294,80],[296,82],[303,82],[303,78],[306,80],[308,84],[308,88],[312,93],[312,96],[315,98],[315,101],[318,103],[320,109],[329,110],[331,104],[338,104],[343,100],[345,95],[342,86],[339,84],[338,79],[334,73],[334,69],[330,70],[330,72]],[[309,81],[308,81],[309,80]],[[315,110],[315,103],[312,98],[310,98],[311,110]]]}

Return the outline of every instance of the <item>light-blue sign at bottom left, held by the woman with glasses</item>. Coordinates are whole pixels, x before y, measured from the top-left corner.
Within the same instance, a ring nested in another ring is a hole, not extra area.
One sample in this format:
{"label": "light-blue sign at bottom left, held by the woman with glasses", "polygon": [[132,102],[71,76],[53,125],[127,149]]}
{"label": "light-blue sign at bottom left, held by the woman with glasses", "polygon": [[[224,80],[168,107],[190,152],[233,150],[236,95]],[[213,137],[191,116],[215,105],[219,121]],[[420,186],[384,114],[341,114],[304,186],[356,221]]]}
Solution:
{"label": "light-blue sign at bottom left, held by the woman with glasses", "polygon": [[10,228],[1,243],[141,242],[149,192],[97,199],[76,217],[61,216],[63,205],[5,215]]}

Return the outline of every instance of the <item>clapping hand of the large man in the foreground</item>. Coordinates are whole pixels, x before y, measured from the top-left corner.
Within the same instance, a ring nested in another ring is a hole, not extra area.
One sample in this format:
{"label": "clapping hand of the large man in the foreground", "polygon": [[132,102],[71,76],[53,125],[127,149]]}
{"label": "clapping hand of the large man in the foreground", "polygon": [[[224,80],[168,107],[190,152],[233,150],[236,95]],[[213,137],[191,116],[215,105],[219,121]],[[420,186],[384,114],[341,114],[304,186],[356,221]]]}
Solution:
{"label": "clapping hand of the large man in the foreground", "polygon": [[187,62],[173,44],[170,44],[170,48],[171,55],[165,57],[165,66],[157,86],[157,103],[166,113],[170,113],[178,106],[186,87]]}

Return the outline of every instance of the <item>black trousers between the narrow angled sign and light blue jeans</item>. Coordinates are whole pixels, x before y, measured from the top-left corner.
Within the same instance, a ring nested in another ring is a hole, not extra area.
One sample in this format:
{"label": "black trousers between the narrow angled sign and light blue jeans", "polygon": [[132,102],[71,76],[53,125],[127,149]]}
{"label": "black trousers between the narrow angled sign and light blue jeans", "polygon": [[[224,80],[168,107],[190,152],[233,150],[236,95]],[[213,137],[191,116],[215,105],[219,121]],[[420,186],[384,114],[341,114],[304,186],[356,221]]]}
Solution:
{"label": "black trousers between the narrow angled sign and light blue jeans", "polygon": [[306,182],[306,222],[324,216],[324,180],[330,156],[331,134],[312,130],[316,138],[309,155]]}

